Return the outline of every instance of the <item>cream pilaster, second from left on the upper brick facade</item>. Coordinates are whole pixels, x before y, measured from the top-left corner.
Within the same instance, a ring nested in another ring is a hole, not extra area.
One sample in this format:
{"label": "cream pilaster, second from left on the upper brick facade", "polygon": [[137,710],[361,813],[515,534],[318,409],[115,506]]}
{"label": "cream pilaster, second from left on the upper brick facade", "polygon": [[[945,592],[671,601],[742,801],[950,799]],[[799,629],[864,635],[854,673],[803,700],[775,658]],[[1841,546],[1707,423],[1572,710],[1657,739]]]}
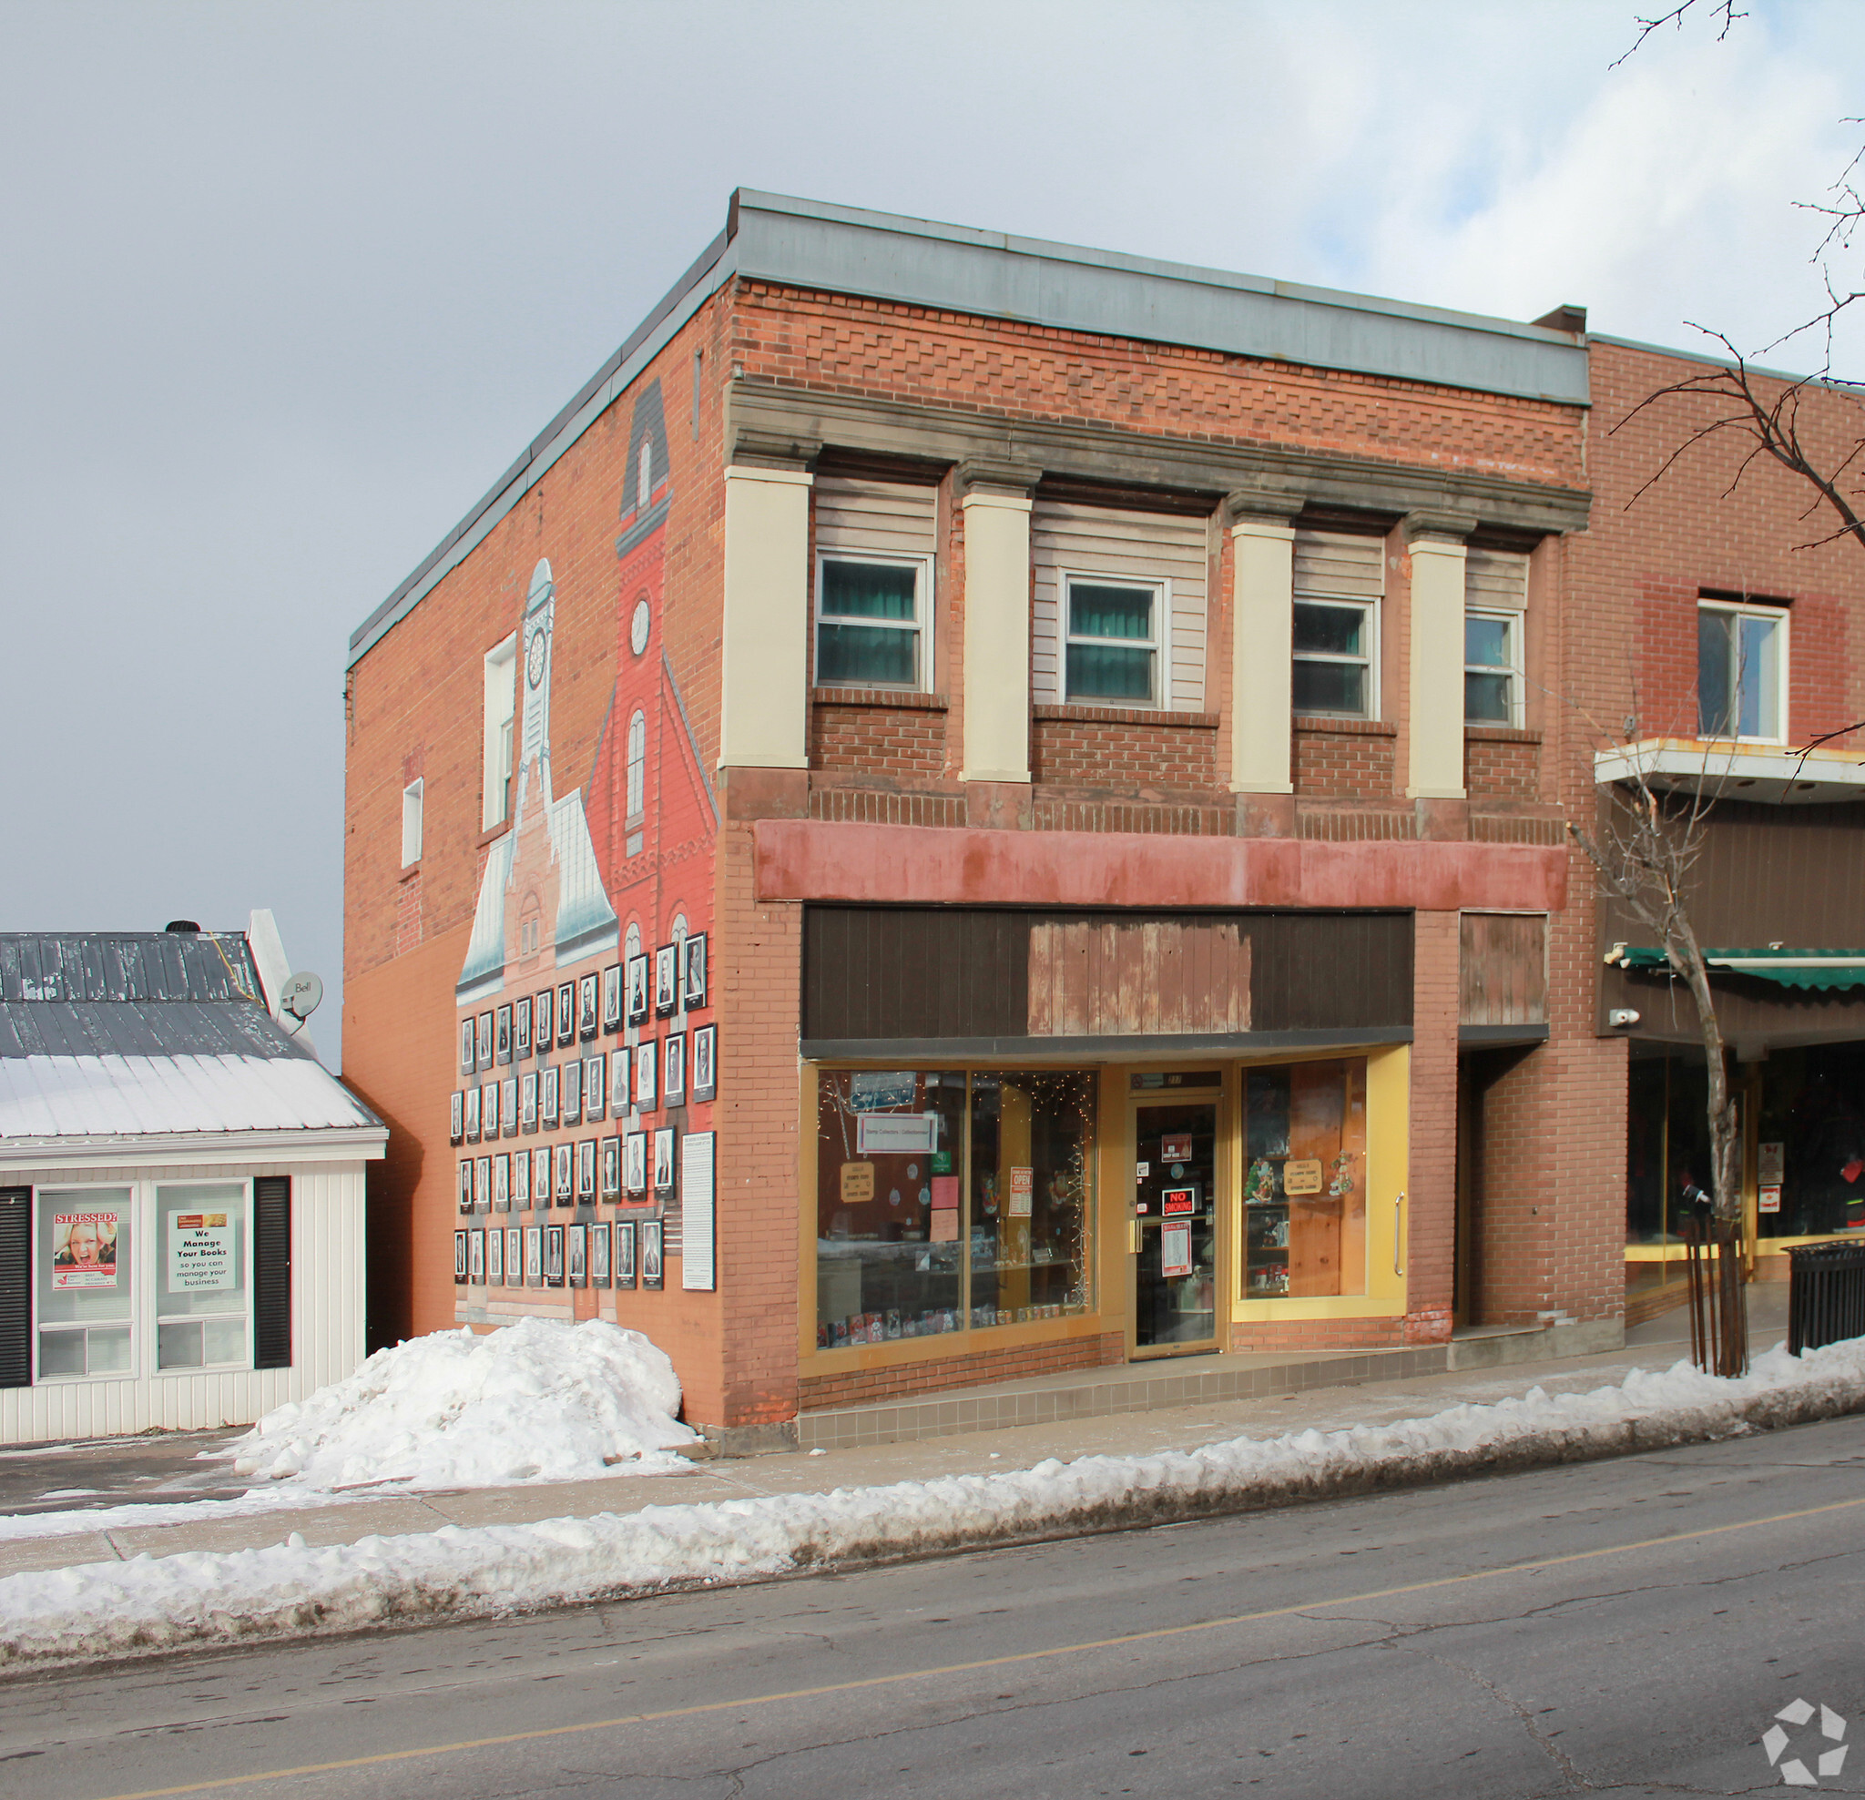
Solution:
{"label": "cream pilaster, second from left on the upper brick facade", "polygon": [[1029,780],[1028,494],[964,496],[966,782]]}

